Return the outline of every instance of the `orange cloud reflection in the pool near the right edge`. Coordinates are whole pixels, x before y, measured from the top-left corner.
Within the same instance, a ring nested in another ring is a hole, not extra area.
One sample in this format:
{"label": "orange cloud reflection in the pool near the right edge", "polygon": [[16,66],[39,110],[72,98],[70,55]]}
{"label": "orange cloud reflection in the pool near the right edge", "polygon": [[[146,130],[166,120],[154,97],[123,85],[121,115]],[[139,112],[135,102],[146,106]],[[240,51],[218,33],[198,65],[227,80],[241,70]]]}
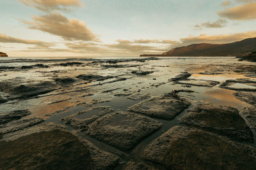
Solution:
{"label": "orange cloud reflection in the pool near the right edge", "polygon": [[236,97],[233,96],[233,93],[234,90],[213,89],[204,92],[204,97],[207,103],[216,103],[236,108],[242,108],[244,105],[248,105],[247,103],[236,99]]}

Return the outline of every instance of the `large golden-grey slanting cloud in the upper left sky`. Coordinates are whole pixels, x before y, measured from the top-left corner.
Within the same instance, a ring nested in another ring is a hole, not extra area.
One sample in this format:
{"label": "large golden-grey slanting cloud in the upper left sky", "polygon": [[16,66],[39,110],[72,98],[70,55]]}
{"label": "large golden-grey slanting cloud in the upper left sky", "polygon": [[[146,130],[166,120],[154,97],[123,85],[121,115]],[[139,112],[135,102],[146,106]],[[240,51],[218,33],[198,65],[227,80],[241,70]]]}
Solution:
{"label": "large golden-grey slanting cloud in the upper left sky", "polygon": [[33,17],[33,21],[23,20],[24,24],[29,25],[30,29],[38,29],[61,38],[74,41],[99,41],[96,34],[88,29],[83,21],[76,18],[68,20],[60,13],[49,13],[47,15]]}

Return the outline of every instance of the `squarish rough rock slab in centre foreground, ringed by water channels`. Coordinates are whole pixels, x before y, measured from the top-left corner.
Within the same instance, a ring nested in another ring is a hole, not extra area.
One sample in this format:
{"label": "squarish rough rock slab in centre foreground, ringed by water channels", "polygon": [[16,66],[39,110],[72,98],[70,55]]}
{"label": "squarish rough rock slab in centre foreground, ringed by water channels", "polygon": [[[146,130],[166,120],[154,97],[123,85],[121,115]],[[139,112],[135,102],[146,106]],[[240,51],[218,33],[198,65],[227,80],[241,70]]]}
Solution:
{"label": "squarish rough rock slab in centre foreground, ringed by water channels", "polygon": [[130,150],[161,125],[134,113],[116,112],[95,120],[86,133],[121,150]]}

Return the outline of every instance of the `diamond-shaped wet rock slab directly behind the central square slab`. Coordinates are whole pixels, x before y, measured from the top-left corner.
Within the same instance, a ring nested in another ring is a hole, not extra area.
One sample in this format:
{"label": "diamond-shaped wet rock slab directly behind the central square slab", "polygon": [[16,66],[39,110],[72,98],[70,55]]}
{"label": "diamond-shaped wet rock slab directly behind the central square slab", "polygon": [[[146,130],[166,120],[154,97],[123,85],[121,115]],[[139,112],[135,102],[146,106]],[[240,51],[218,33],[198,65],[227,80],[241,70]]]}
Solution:
{"label": "diamond-shaped wet rock slab directly behind the central square slab", "polygon": [[129,111],[148,115],[153,118],[162,118],[165,120],[172,120],[179,113],[188,108],[190,104],[179,96],[166,94],[164,96],[154,97],[147,101],[135,104],[128,108]]}

